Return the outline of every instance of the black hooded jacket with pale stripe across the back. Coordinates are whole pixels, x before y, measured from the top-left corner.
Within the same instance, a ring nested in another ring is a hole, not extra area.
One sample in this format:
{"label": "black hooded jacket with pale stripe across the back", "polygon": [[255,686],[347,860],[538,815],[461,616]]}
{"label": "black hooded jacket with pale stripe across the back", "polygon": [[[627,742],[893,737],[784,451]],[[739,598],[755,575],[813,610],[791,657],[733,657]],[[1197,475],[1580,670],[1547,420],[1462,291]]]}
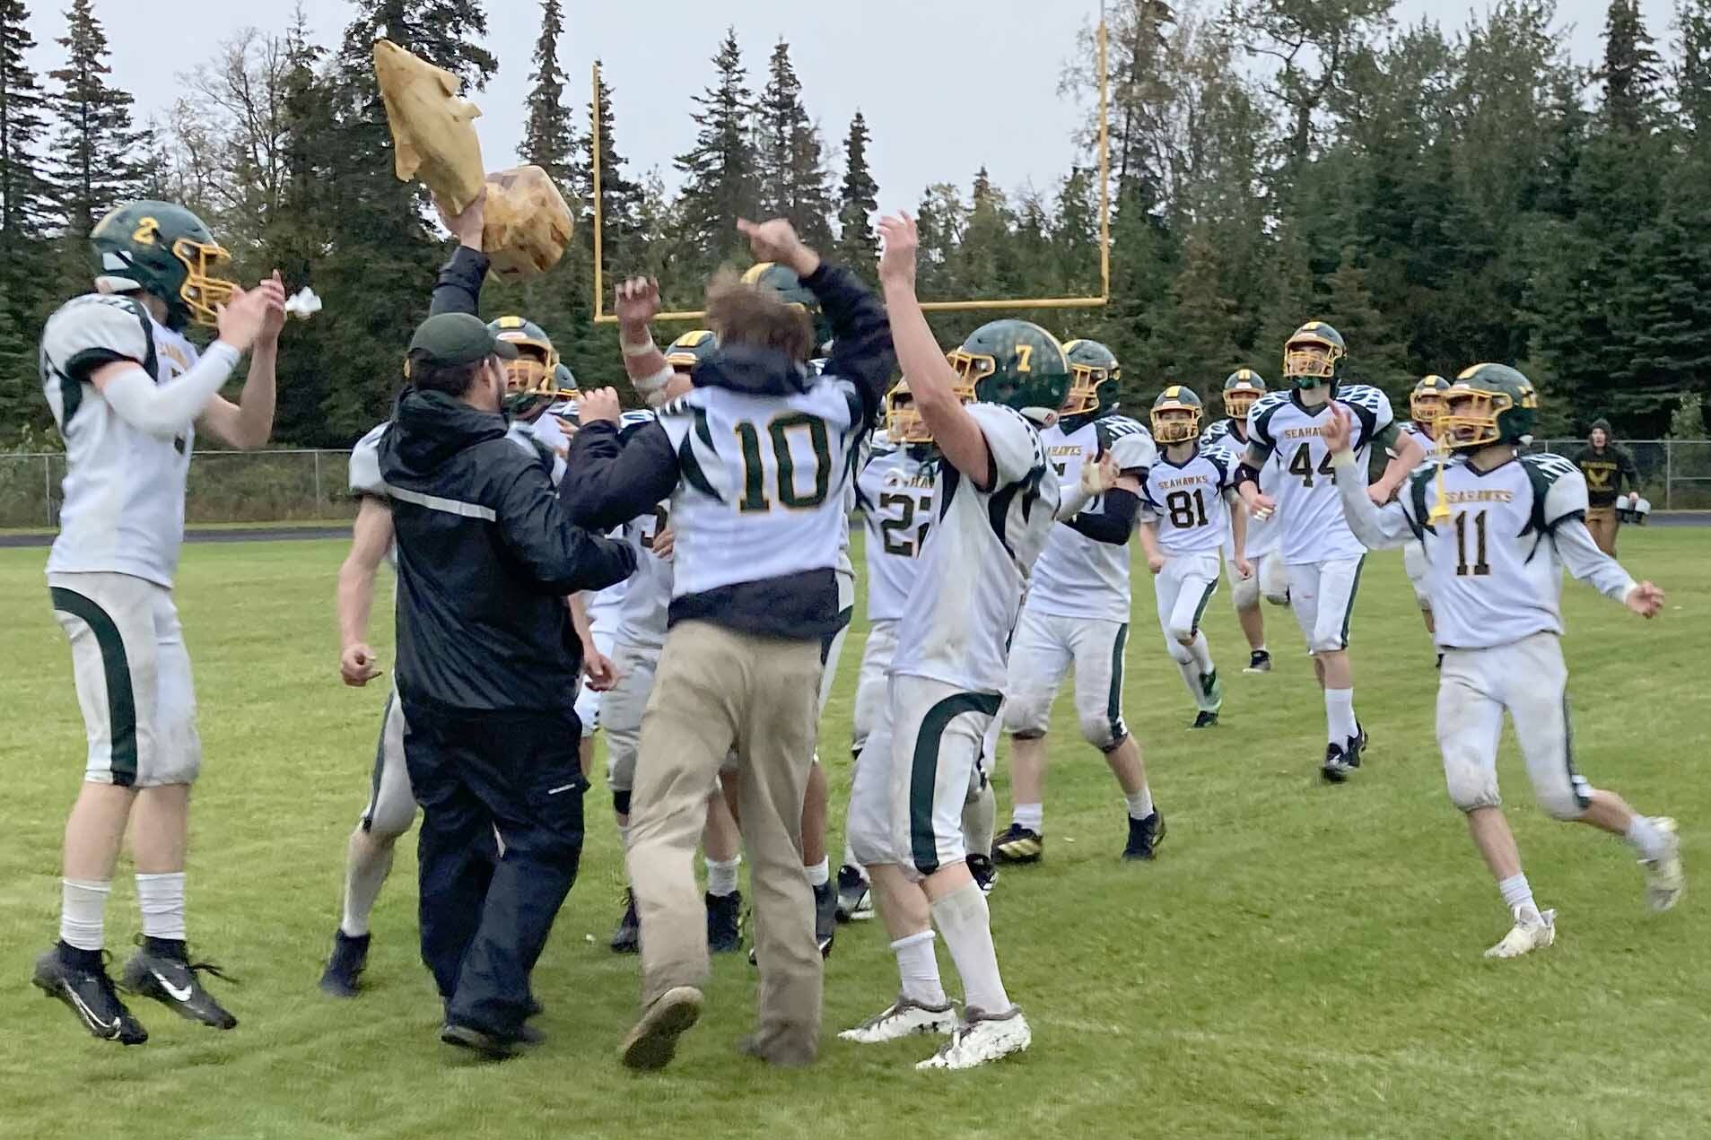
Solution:
{"label": "black hooded jacket with pale stripe across the back", "polygon": [[501,416],[407,390],[380,443],[399,551],[399,693],[453,709],[570,709],[582,645],[565,596],[635,551],[565,515],[544,457]]}

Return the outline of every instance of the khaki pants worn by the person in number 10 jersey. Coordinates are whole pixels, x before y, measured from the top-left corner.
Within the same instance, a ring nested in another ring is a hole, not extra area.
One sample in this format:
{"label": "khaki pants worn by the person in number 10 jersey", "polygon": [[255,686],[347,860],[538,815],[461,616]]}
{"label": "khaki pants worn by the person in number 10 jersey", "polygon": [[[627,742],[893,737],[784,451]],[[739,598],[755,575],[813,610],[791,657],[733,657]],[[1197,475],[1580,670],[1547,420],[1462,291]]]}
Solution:
{"label": "khaki pants worn by the person in number 10 jersey", "polygon": [[820,1041],[823,964],[802,875],[802,798],[818,729],[820,642],[681,621],[666,635],[642,719],[630,816],[630,882],[642,921],[642,1003],[710,971],[695,847],[725,753],[741,769],[739,808],[760,964],[755,1046],[808,1061]]}

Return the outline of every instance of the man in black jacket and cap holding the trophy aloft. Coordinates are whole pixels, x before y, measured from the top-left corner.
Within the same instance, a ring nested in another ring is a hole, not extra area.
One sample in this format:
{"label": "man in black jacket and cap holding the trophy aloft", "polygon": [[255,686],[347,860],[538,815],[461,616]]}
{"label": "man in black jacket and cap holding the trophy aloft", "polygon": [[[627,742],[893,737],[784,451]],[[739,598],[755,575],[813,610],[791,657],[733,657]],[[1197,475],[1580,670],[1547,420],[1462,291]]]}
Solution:
{"label": "man in black jacket and cap holding the trophy aloft", "polygon": [[[469,212],[448,221],[457,231]],[[467,245],[436,308],[457,267],[477,286],[486,274]],[[635,570],[628,544],[568,520],[548,460],[506,438],[501,358],[515,351],[469,312],[428,317],[380,445],[404,758],[423,806],[423,960],[445,998],[441,1039],[488,1056],[530,1037],[529,972],[582,856],[582,652],[565,597]]]}

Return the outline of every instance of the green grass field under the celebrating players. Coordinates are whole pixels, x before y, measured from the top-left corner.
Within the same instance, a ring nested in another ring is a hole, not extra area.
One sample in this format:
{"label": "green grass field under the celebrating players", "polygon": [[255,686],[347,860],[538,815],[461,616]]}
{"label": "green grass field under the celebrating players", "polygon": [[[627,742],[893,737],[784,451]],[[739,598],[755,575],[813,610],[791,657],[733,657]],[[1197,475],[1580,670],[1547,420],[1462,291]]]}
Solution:
{"label": "green grass field under the celebrating players", "polygon": [[[1689,875],[1704,875],[1711,702],[1697,666],[1711,531],[1625,529],[1622,543],[1670,604],[1648,625],[1567,587],[1579,763],[1641,810],[1677,815]],[[1374,743],[1343,787],[1317,779],[1323,704],[1292,618],[1268,611],[1278,669],[1242,676],[1220,592],[1210,635],[1223,724],[1189,733],[1140,575],[1128,717],[1170,837],[1155,864],[1117,861],[1122,799],[1059,702],[1047,863],[1006,870],[992,895],[1006,983],[1035,1027],[1021,1060],[922,1075],[910,1063],[931,1042],[838,1042],[837,1029],[895,991],[869,923],[838,936],[818,1066],[772,1072],[732,1051],[753,1001],[753,971],[732,955],[717,962],[708,1013],[678,1063],[647,1078],[614,1060],[636,979],[635,960],[604,945],[619,876],[599,781],[583,875],[536,976],[544,1048],[484,1066],[438,1044],[414,948],[411,842],[375,914],[368,991],[352,1003],[317,991],[383,697],[335,676],[340,543],[192,546],[180,575],[207,751],[190,933],[243,981],[219,991],[243,1024],[216,1034],[142,1001],[152,1037],[120,1049],[44,1001],[27,976],[55,931],[82,726],[43,556],[0,551],[12,599],[0,609],[7,1140],[1711,1135],[1711,911],[1696,897],[1706,880],[1675,912],[1648,914],[1629,851],[1545,818],[1506,741],[1511,820],[1560,938],[1519,962],[1480,959],[1507,914],[1444,798],[1432,657],[1393,555],[1367,567],[1355,618],[1357,707]],[[376,621],[390,626],[390,615]],[[390,644],[390,630],[375,640]],[[823,726],[835,827],[859,656],[857,625]],[[999,803],[1008,810],[1003,774]],[[121,868],[108,911],[116,957],[135,929]],[[950,984],[948,955],[941,964]]]}

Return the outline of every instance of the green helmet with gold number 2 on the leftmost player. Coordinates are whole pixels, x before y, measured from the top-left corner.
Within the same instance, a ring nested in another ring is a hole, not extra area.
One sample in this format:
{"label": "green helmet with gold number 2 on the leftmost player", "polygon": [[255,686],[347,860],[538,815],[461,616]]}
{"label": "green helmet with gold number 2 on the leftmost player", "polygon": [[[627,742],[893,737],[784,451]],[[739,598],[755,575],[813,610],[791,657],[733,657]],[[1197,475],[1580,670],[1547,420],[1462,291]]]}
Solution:
{"label": "green helmet with gold number 2 on the leftmost player", "polygon": [[231,255],[202,219],[183,205],[152,199],[113,207],[89,233],[96,253],[96,288],[103,293],[151,293],[166,301],[166,327],[214,325],[217,306],[236,282],[217,270]]}

